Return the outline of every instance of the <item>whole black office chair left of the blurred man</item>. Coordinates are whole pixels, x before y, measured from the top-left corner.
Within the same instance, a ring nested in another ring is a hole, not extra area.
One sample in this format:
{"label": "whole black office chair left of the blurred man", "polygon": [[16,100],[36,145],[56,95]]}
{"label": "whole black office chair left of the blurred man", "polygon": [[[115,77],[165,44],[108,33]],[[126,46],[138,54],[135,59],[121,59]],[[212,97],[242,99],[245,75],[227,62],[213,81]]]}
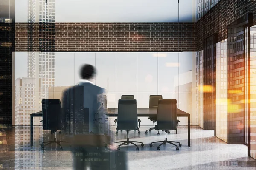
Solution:
{"label": "whole black office chair left of the blurred man", "polygon": [[[44,151],[44,146],[52,143],[58,144],[60,150],[63,150],[61,143],[68,143],[59,141],[56,139],[57,130],[61,130],[62,112],[61,101],[59,99],[43,99],[42,100],[42,113],[43,113],[43,130],[51,130],[51,134],[54,134],[54,140],[43,142],[40,144],[41,149]],[[61,134],[61,131],[59,132]]]}

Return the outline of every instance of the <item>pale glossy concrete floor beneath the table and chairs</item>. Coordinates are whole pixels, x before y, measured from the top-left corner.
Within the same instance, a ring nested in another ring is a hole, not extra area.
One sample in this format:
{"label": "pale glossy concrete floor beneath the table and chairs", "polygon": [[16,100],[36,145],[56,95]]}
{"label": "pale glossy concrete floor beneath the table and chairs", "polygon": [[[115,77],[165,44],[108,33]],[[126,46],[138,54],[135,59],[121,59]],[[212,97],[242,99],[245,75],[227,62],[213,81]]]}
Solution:
{"label": "pale glossy concrete floor beneath the table and chairs", "polygon": [[[176,147],[171,144],[162,145],[161,150],[157,150],[158,144],[150,147],[151,142],[164,140],[165,133],[161,131],[157,135],[157,130],[152,130],[145,134],[148,128],[141,127],[140,134],[137,131],[130,132],[130,140],[144,143],[144,147],[139,145],[139,151],[132,144],[121,147],[121,151],[127,154],[129,170],[256,170],[256,160],[247,157],[247,146],[228,145],[214,137],[213,130],[191,127],[191,147],[187,143],[187,127],[179,127],[178,134],[171,131],[167,138],[182,144],[180,150],[176,151]],[[116,141],[126,140],[126,132],[115,134],[114,127],[112,130]],[[15,135],[17,133],[15,131]],[[39,146],[34,148],[35,151],[20,151],[17,148],[16,144],[14,158],[6,160],[14,161],[15,167],[12,169],[25,169],[26,166],[21,166],[21,163],[30,162],[30,169],[72,170],[72,153],[66,147],[59,151],[59,147],[53,144],[44,152]],[[22,159],[20,153],[23,154]],[[33,155],[33,159],[29,155]],[[31,163],[34,165],[31,166]]]}

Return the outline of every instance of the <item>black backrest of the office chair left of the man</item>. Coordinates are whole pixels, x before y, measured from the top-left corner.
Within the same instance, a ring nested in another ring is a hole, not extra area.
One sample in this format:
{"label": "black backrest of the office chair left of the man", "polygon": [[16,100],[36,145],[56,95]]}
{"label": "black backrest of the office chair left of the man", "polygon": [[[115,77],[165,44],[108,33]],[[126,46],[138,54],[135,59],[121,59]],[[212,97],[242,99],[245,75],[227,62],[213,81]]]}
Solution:
{"label": "black backrest of the office chair left of the man", "polygon": [[61,100],[59,99],[43,99],[43,129],[44,130],[61,130],[62,111]]}

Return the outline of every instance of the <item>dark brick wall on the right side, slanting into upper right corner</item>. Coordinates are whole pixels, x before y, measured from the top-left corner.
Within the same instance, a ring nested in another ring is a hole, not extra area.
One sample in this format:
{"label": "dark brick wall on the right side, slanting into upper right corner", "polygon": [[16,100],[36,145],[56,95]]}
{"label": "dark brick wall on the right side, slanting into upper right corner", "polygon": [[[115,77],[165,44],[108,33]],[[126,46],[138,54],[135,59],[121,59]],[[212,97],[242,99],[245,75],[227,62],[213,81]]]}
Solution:
{"label": "dark brick wall on the right side, slanting into upper right corner", "polygon": [[225,40],[228,25],[249,12],[253,13],[254,24],[256,24],[255,0],[220,0],[197,22],[197,51],[204,48],[204,40],[213,34],[218,35],[218,42]]}

